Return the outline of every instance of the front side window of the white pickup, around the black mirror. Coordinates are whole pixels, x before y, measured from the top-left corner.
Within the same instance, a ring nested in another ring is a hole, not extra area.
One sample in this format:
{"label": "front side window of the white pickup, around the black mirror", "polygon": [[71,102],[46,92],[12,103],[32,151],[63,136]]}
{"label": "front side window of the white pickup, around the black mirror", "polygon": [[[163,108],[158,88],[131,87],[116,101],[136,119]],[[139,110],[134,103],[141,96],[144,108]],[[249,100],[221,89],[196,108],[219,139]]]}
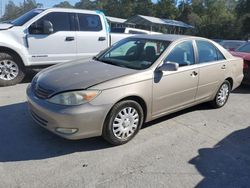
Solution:
{"label": "front side window of the white pickup, around the black mirror", "polygon": [[[53,32],[71,31],[70,14],[66,12],[52,12],[40,18],[30,27],[30,33],[43,34],[43,23],[49,21],[53,25]],[[31,31],[32,30],[32,31]]]}

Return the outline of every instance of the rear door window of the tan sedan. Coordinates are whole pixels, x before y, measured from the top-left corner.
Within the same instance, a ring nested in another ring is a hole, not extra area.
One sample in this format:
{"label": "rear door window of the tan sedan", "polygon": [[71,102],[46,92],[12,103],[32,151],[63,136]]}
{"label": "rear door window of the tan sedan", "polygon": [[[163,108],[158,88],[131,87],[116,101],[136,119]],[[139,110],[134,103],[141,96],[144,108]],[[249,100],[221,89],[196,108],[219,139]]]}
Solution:
{"label": "rear door window of the tan sedan", "polygon": [[199,63],[208,63],[225,59],[223,54],[210,42],[196,41],[196,45]]}

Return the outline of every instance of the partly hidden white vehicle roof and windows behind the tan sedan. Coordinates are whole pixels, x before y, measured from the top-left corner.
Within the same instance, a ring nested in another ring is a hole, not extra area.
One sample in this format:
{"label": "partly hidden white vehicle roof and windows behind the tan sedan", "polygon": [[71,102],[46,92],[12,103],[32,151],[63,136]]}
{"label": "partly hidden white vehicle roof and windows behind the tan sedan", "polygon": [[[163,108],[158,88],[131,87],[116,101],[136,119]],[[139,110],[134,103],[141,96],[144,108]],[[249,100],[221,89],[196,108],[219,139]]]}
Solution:
{"label": "partly hidden white vehicle roof and windows behind the tan sedan", "polygon": [[144,29],[136,29],[130,27],[114,27],[111,28],[112,33],[127,33],[127,34],[162,34],[159,32],[148,31]]}

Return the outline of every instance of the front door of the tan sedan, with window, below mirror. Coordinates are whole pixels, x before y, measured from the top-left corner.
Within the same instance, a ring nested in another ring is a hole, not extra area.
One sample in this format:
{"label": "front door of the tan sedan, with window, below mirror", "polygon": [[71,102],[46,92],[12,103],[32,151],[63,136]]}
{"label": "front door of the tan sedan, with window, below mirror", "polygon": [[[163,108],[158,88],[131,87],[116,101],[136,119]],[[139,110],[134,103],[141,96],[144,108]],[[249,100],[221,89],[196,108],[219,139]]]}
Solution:
{"label": "front door of the tan sedan, with window, below mirror", "polygon": [[195,64],[193,41],[177,44],[164,63],[179,64],[177,71],[155,71],[153,83],[153,117],[195,101],[199,69]]}

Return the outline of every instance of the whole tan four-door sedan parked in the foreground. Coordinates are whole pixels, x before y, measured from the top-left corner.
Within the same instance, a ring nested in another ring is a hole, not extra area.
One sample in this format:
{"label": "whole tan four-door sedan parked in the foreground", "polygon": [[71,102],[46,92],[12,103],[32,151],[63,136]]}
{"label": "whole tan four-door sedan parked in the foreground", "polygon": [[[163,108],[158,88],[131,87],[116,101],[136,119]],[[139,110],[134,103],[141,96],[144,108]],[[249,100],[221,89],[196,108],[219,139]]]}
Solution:
{"label": "whole tan four-door sedan parked in the foreground", "polygon": [[241,58],[204,38],[137,35],[94,60],[38,73],[27,98],[34,120],[51,132],[67,139],[102,135],[119,145],[144,122],[202,102],[224,106],[242,67]]}

